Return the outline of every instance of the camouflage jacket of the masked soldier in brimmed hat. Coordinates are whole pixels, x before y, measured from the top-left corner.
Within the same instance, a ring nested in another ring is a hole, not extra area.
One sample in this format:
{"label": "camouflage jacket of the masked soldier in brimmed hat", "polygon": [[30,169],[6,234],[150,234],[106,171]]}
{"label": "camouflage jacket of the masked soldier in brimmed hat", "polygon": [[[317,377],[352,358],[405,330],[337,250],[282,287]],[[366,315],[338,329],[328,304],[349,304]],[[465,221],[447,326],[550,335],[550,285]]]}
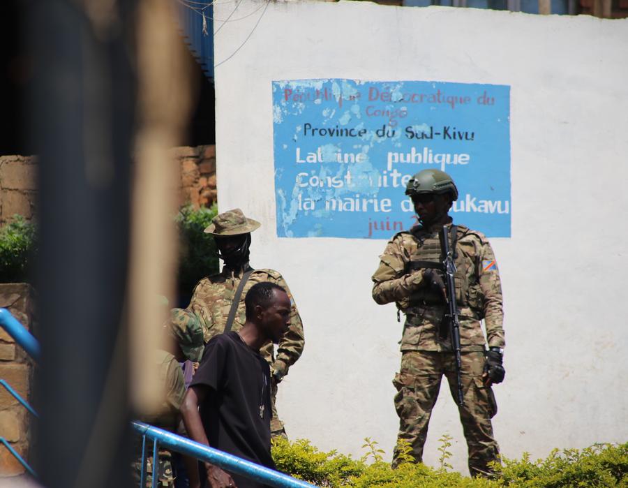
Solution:
{"label": "camouflage jacket of the masked soldier in brimmed hat", "polygon": [[[222,334],[225,330],[233,297],[243,274],[244,273],[241,271],[234,273],[231,269],[223,267],[222,272],[207,276],[207,278],[199,281],[194,288],[188,311],[192,311],[199,318],[203,327],[205,343],[215,335]],[[264,356],[270,364],[272,372],[280,371],[281,374],[285,375],[290,366],[301,356],[305,339],[303,323],[301,323],[301,316],[299,316],[297,305],[294,304],[290,289],[287,287],[283,276],[281,276],[279,272],[276,272],[274,269],[255,269],[255,271],[251,273],[251,276],[248,277],[244,285],[244,290],[242,290],[240,303],[231,330],[237,332],[244,325],[246,320],[244,308],[246,292],[255,285],[255,283],[261,283],[262,281],[271,281],[285,288],[292,302],[290,328],[278,344],[276,355],[274,354],[273,343],[270,341],[266,346],[262,347],[260,351],[262,356]]]}

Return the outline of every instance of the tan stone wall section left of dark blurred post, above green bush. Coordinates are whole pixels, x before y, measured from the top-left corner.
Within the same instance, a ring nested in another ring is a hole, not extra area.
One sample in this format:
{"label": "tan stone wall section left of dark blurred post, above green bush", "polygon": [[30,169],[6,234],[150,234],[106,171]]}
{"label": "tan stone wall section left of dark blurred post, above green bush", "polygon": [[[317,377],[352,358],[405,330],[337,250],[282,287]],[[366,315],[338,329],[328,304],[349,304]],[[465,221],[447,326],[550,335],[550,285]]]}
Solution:
{"label": "tan stone wall section left of dark blurred post, above green bush", "polygon": [[35,214],[36,158],[0,156],[0,225],[20,214],[30,220]]}

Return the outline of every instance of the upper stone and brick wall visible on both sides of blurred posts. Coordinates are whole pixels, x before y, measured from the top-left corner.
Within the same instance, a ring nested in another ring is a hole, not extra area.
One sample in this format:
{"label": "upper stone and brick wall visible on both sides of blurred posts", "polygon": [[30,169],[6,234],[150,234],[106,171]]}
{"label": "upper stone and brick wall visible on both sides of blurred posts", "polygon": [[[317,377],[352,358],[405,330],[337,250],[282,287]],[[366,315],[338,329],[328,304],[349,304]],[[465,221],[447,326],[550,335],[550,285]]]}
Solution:
{"label": "upper stone and brick wall visible on both sides of blurred posts", "polygon": [[[182,205],[195,208],[216,202],[216,146],[177,147],[173,149],[180,168]],[[0,226],[15,214],[31,220],[37,196],[37,158],[0,156]]]}

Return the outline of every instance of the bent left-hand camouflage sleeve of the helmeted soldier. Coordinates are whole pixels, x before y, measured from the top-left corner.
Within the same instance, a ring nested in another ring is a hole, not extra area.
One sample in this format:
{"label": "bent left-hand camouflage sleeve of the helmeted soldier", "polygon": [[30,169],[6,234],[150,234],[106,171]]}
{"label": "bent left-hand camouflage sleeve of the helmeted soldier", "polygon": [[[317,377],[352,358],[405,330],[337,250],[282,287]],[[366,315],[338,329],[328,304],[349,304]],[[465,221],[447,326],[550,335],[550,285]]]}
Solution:
{"label": "bent left-hand camouflage sleeve of the helmeted soldier", "polygon": [[408,300],[410,295],[421,285],[422,274],[415,271],[406,274],[405,252],[402,239],[394,237],[380,256],[380,266],[377,267],[371,279],[373,280],[373,300],[380,305],[390,302]]}

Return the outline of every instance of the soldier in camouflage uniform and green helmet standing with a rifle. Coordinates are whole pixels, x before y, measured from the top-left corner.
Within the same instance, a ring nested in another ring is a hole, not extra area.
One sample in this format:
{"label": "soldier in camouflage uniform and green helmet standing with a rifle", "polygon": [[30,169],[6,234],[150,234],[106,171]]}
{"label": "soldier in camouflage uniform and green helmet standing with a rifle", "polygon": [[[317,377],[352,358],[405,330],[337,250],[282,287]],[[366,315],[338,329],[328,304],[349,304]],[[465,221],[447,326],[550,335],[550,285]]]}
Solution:
{"label": "soldier in camouflage uniform and green helmet standing with a rifle", "polygon": [[[398,311],[405,313],[401,370],[393,381],[400,419],[398,441],[408,442],[410,454],[421,462],[443,375],[452,397],[457,397],[456,360],[449,327],[444,323],[447,319],[443,320],[446,295],[438,265],[442,261],[438,231],[447,225],[450,249],[455,251],[456,305],[460,312],[464,405],[458,409],[469,450],[469,471],[472,476],[489,475],[493,470],[488,463],[498,461],[499,453],[491,425],[497,412],[491,385],[500,383],[505,374],[502,289],[495,256],[481,232],[453,225],[448,212],[458,190],[447,173],[421,171],[410,179],[405,193],[412,198],[420,225],[394,235],[373,274],[375,302],[396,302]],[[422,263],[409,265],[416,261]],[[488,338],[486,353],[481,320]],[[398,462],[396,450],[394,466]]]}

